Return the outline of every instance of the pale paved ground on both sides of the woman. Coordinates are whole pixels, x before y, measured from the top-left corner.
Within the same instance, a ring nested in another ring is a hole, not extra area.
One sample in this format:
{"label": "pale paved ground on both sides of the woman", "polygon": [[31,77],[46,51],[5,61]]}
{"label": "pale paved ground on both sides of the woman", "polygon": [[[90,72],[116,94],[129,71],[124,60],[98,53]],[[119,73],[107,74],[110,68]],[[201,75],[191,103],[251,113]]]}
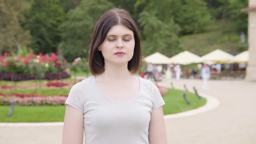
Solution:
{"label": "pale paved ground on both sides of the woman", "polygon": [[[160,85],[169,86],[170,82]],[[256,83],[215,80],[202,91],[201,80],[173,81],[175,88],[211,95],[218,108],[198,115],[166,119],[168,144],[256,144]],[[0,127],[0,144],[61,144],[62,126]]]}

